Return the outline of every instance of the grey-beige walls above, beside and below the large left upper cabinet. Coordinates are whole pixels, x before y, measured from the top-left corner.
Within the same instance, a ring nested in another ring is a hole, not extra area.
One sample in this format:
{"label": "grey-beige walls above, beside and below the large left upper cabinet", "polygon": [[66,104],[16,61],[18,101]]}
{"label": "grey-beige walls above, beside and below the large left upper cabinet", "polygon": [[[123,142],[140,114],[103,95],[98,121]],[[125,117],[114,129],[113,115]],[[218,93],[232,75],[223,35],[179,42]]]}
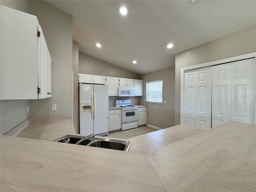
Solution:
{"label": "grey-beige walls above, beside and below the large left upper cabinet", "polygon": [[[1,100],[1,134],[30,116],[71,114],[72,112],[72,16],[44,1],[1,1],[36,15],[52,57],[52,98],[42,100]],[[57,111],[51,111],[57,104]],[[26,112],[30,106],[30,114]]]}

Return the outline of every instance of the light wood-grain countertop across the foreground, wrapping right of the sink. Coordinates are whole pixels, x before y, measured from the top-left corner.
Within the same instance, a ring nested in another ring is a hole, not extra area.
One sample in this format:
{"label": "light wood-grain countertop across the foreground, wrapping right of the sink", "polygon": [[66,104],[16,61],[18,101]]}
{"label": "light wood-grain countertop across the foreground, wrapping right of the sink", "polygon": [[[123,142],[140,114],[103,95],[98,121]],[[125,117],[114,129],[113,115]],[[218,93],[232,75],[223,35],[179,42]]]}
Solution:
{"label": "light wood-grain countertop across the foreground, wrapping right of the sink", "polygon": [[1,191],[256,191],[255,125],[179,125],[128,140],[123,152],[1,136]]}

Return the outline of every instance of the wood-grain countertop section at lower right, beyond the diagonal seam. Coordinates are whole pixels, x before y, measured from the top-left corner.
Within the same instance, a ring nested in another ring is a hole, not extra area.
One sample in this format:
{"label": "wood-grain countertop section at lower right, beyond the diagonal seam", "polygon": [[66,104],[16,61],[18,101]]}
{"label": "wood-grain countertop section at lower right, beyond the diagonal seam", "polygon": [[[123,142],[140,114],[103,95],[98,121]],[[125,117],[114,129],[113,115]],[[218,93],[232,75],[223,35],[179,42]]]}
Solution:
{"label": "wood-grain countertop section at lower right, beyond the diagonal seam", "polygon": [[227,122],[146,156],[168,192],[256,191],[256,125]]}

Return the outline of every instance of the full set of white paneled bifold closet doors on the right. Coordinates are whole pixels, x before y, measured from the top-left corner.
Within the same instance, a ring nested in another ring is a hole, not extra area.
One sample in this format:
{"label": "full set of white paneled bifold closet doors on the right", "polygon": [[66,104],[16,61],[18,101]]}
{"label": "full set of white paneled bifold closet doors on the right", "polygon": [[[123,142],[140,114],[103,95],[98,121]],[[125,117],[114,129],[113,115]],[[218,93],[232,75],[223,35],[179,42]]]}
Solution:
{"label": "full set of white paneled bifold closet doors on the right", "polygon": [[255,58],[188,70],[184,122],[209,129],[230,120],[255,124]]}

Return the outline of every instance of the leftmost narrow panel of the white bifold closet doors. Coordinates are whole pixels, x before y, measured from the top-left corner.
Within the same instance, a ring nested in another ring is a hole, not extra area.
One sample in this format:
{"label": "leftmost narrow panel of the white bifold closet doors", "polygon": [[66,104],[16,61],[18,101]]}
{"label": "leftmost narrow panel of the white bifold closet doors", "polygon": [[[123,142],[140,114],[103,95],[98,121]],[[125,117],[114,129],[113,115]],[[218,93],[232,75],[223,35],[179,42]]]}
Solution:
{"label": "leftmost narrow panel of the white bifold closet doors", "polygon": [[196,127],[196,76],[197,70],[185,73],[184,124]]}

